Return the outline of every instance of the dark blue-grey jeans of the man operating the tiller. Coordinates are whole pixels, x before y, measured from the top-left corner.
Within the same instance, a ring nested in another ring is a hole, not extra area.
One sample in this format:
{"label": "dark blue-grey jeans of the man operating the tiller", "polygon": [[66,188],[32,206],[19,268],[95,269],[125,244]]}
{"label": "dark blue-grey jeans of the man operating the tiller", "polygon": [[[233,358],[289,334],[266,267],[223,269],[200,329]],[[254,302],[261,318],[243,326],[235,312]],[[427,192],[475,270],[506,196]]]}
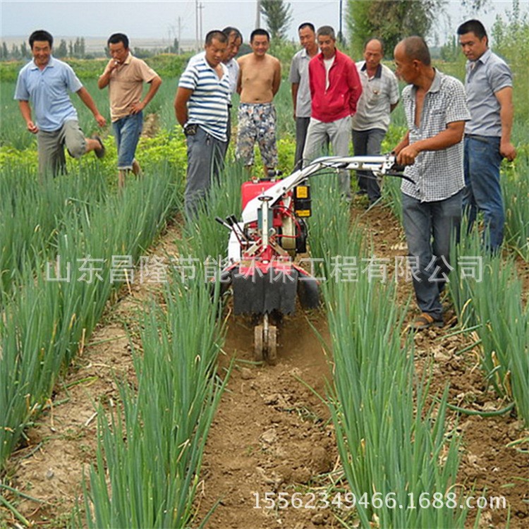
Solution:
{"label": "dark blue-grey jeans of the man operating the tiller", "polygon": [[462,195],[461,190],[446,200],[420,202],[402,194],[408,254],[418,259],[418,269],[411,264],[415,298],[434,320],[443,317],[439,294],[450,271],[450,240],[461,224]]}

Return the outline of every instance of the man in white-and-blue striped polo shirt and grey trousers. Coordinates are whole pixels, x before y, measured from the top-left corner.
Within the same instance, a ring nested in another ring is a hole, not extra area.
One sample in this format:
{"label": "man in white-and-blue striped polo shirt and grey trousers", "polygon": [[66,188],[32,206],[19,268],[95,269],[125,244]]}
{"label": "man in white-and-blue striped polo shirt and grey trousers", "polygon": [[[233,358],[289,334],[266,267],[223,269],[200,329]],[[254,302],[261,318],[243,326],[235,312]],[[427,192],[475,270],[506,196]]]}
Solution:
{"label": "man in white-and-blue striped polo shirt and grey trousers", "polygon": [[178,82],[174,109],[188,143],[184,209],[189,220],[205,199],[212,176],[218,178],[224,164],[230,80],[222,59],[227,46],[223,32],[210,31],[206,35],[205,56],[188,67]]}

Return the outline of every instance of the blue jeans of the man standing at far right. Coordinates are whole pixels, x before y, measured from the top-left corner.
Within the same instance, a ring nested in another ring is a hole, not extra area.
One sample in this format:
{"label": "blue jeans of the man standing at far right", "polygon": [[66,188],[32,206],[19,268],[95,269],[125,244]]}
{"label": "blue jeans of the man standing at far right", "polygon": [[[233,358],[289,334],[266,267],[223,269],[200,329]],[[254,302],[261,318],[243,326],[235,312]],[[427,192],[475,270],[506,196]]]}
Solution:
{"label": "blue jeans of the man standing at far right", "polygon": [[486,233],[490,250],[498,250],[504,240],[504,204],[499,185],[500,138],[465,136],[465,192],[463,209],[468,214],[469,229],[478,209],[485,215]]}

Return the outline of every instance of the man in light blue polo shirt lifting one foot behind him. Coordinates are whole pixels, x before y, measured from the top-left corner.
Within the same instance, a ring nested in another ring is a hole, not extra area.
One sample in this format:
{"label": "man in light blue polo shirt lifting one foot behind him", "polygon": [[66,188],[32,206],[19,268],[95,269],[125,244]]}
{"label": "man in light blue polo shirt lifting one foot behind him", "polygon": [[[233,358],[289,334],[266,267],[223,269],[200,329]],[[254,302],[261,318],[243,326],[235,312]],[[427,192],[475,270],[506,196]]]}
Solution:
{"label": "man in light blue polo shirt lifting one foot behind him", "polygon": [[104,146],[98,136],[85,138],[68,92],[75,92],[80,97],[100,127],[106,121],[71,66],[51,55],[52,47],[53,37],[49,32],[32,32],[30,48],[33,60],[18,74],[15,99],[18,99],[28,130],[37,135],[39,173],[50,172],[55,176],[66,171],[64,145],[74,158],[90,151],[94,151],[98,158],[104,156]]}

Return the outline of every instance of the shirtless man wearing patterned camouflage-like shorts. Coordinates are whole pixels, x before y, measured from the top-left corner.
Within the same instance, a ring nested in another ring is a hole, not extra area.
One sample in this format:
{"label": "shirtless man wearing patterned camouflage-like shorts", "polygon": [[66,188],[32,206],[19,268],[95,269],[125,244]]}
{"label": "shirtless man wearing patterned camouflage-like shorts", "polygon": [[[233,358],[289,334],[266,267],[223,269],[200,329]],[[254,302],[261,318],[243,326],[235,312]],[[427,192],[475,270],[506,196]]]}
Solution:
{"label": "shirtless man wearing patterned camouflage-like shorts", "polygon": [[281,83],[281,63],[267,55],[270,35],[267,30],[253,30],[252,53],[238,59],[237,92],[241,95],[238,111],[236,157],[245,166],[253,165],[253,147],[257,141],[265,175],[278,164],[276,146],[276,111],[272,100]]}

